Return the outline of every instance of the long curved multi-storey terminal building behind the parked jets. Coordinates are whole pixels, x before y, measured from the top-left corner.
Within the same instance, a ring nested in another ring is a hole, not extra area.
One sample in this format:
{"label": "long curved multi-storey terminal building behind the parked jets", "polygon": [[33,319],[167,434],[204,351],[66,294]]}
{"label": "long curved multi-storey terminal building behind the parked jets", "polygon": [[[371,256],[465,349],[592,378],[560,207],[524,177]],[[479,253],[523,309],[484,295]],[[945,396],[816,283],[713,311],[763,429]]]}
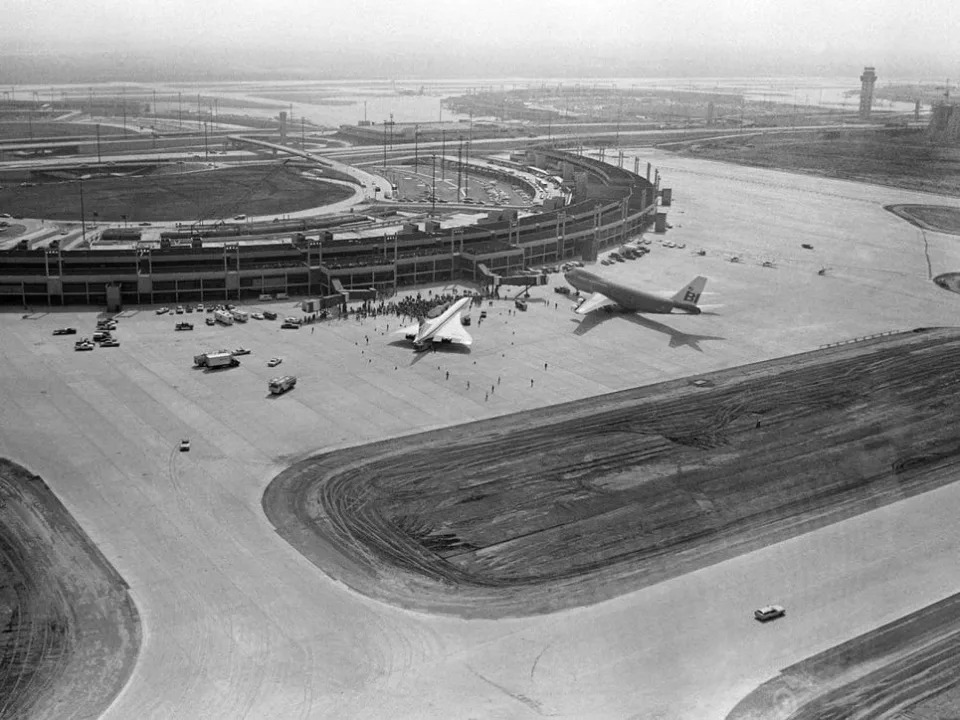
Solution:
{"label": "long curved multi-storey terminal building behind the parked jets", "polygon": [[567,205],[526,217],[493,210],[476,224],[452,228],[436,220],[407,223],[362,238],[337,237],[337,228],[355,223],[358,213],[274,223],[271,238],[238,237],[236,226],[184,228],[162,233],[157,247],[137,242],[131,229],[114,238],[128,241],[122,249],[11,249],[0,253],[0,302],[115,308],[482,282],[489,273],[593,259],[654,221],[657,187],[635,173],[553,149],[532,150],[527,160],[563,178],[571,188]]}

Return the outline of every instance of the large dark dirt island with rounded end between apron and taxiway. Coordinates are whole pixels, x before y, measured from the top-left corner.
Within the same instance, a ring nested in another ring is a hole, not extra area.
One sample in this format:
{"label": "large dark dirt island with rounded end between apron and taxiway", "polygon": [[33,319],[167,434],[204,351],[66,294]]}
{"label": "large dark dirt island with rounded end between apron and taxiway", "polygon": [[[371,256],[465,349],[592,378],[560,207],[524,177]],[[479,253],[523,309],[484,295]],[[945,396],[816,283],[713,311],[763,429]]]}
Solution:
{"label": "large dark dirt island with rounded end between apron and taxiway", "polygon": [[588,604],[955,480],[958,346],[907,333],[344,450],[264,508],[380,599]]}

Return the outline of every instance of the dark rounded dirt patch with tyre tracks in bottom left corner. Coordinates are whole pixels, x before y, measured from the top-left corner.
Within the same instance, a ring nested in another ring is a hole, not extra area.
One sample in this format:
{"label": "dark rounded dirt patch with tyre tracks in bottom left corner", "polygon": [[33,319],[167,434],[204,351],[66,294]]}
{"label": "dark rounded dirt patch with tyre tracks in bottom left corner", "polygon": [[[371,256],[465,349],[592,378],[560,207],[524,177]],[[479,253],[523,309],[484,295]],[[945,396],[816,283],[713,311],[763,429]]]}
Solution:
{"label": "dark rounded dirt patch with tyre tracks in bottom left corner", "polygon": [[0,459],[0,717],[98,717],[133,670],[126,584],[39,477]]}

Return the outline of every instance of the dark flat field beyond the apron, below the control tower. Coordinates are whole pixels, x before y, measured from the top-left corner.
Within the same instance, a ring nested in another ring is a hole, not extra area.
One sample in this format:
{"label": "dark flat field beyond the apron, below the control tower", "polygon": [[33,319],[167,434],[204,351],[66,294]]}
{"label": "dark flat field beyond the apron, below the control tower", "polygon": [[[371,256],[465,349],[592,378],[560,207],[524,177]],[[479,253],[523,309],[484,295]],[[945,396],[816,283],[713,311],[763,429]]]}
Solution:
{"label": "dark flat field beyond the apron, below the control tower", "polygon": [[960,148],[928,142],[921,131],[747,135],[698,142],[680,152],[743,165],[960,196]]}

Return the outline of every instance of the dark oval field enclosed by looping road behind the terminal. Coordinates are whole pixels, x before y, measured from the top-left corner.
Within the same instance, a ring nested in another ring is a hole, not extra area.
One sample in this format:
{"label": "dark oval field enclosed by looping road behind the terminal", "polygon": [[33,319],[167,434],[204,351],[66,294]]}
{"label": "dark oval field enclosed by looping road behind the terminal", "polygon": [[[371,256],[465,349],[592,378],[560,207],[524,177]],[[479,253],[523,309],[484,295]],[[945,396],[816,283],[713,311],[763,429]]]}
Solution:
{"label": "dark oval field enclosed by looping road behind the terminal", "polygon": [[[187,220],[246,215],[281,215],[338,202],[351,196],[341,185],[311,180],[279,164],[226,167],[182,175],[91,178],[84,181],[88,222]],[[0,190],[4,212],[50,220],[80,219],[79,183],[38,183]]]}

